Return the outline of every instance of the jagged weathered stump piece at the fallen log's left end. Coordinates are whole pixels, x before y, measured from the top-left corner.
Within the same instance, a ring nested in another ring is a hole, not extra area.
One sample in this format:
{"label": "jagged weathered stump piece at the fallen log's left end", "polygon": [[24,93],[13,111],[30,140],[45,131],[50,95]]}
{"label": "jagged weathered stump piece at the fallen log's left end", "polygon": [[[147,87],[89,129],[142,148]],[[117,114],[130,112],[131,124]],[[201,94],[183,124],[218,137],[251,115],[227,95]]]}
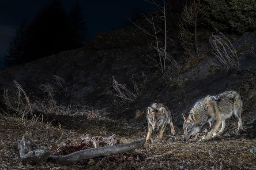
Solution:
{"label": "jagged weathered stump piece at the fallen log's left end", "polygon": [[30,165],[35,165],[37,163],[43,163],[47,160],[48,156],[52,154],[52,152],[38,149],[37,145],[31,140],[31,134],[28,132],[25,132],[22,140],[19,140],[17,144],[19,156],[24,164],[28,163]]}

